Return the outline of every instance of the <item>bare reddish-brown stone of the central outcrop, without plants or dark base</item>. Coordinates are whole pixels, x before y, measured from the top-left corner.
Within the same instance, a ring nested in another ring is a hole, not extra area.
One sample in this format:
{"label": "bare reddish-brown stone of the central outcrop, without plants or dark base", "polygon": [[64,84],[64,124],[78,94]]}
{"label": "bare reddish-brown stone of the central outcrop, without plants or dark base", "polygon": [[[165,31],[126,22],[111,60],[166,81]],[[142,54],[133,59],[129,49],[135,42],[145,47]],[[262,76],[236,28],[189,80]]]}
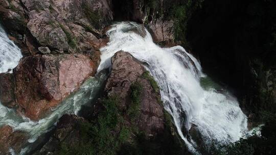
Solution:
{"label": "bare reddish-brown stone of the central outcrop, without plants or dark base", "polygon": [[[155,93],[150,82],[142,77],[145,68],[132,55],[118,51],[111,59],[112,70],[105,91],[109,95],[119,96],[120,109],[125,111],[131,104],[130,87],[134,82],[142,86],[140,114],[136,125],[146,136],[155,136],[164,130],[164,109],[159,103],[159,94]],[[128,118],[129,119],[129,118]]]}

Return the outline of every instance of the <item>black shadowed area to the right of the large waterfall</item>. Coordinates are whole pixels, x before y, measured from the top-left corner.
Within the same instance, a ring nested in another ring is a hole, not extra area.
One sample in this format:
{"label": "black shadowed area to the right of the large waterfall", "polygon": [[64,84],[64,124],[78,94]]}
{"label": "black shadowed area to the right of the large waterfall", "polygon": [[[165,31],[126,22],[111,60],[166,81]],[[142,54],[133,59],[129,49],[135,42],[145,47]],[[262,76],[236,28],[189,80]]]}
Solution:
{"label": "black shadowed area to the right of the large waterfall", "polygon": [[234,88],[251,110],[264,70],[276,66],[275,8],[274,1],[207,0],[188,22],[187,40],[204,72]]}

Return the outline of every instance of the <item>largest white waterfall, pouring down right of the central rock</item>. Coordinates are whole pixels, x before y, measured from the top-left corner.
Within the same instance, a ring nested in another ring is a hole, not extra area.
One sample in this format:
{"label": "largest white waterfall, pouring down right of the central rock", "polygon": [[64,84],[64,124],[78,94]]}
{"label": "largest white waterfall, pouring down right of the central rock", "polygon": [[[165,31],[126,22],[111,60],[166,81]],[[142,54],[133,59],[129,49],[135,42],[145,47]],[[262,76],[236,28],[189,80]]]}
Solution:
{"label": "largest white waterfall, pouring down right of the central rock", "polygon": [[[165,109],[173,116],[181,138],[193,151],[195,143],[181,132],[196,125],[206,141],[237,141],[242,131],[247,130],[247,118],[239,108],[238,101],[216,92],[212,87],[203,89],[200,79],[206,78],[200,63],[181,46],[161,48],[154,44],[149,32],[146,36],[133,32],[141,29],[134,22],[120,22],[107,32],[108,44],[101,48],[99,70],[111,66],[110,58],[119,50],[128,51],[136,59],[146,62],[145,67],[154,76],[160,87]],[[185,117],[183,117],[185,116]]]}

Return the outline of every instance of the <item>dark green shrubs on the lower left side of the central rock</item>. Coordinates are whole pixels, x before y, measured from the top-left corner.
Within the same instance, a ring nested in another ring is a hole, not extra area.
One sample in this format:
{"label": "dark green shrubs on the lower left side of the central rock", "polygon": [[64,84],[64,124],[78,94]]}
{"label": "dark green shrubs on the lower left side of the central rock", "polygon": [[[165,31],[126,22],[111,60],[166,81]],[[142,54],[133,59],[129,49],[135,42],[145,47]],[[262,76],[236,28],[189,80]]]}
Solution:
{"label": "dark green shrubs on the lower left side of the central rock", "polygon": [[94,123],[82,122],[77,126],[81,131],[82,143],[76,146],[61,144],[58,154],[117,154],[121,144],[129,139],[130,130],[118,111],[117,97],[103,99],[102,105],[104,110]]}

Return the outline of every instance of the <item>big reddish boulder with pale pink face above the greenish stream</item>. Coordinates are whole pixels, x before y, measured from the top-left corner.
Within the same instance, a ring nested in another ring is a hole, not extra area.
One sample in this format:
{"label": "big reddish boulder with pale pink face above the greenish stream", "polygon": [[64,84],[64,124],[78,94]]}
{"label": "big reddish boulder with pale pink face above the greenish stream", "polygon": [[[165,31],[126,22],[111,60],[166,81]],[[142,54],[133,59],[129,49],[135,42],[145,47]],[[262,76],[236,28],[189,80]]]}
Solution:
{"label": "big reddish boulder with pale pink face above the greenish stream", "polygon": [[94,60],[82,54],[22,58],[13,75],[0,75],[6,82],[0,87],[1,102],[12,108],[18,105],[17,111],[38,120],[77,90],[89,75],[94,75],[98,63],[99,55]]}

